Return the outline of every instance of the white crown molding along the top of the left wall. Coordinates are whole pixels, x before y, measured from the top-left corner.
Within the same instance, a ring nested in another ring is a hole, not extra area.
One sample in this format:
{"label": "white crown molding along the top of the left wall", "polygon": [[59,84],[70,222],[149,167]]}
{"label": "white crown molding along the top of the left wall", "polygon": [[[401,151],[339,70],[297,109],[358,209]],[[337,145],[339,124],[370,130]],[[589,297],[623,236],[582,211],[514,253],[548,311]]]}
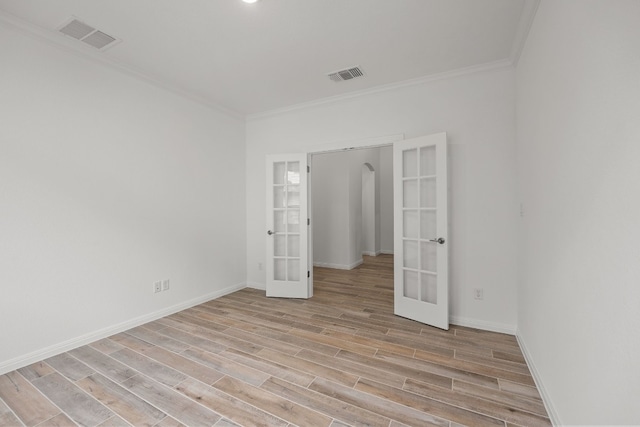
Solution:
{"label": "white crown molding along the top of the left wall", "polygon": [[175,85],[167,83],[164,80],[160,79],[159,77],[155,77],[153,75],[150,75],[149,73],[140,71],[134,67],[122,64],[121,62],[115,59],[108,58],[104,55],[103,52],[95,51],[90,47],[84,46],[79,43],[75,43],[74,40],[71,40],[62,34],[58,34],[55,31],[50,31],[42,27],[39,27],[37,25],[31,24],[30,22],[27,22],[21,18],[18,18],[17,16],[11,15],[1,10],[0,10],[0,24],[5,24],[6,27],[9,29],[15,30],[33,39],[43,41],[48,45],[58,48],[66,53],[71,53],[80,58],[88,59],[92,62],[98,63],[99,65],[108,67],[112,70],[125,74],[128,77],[132,77],[144,83],[147,83],[157,88],[171,92],[174,95],[178,95],[192,102],[196,102],[218,113],[233,117],[234,119],[238,119],[242,121],[245,120],[245,116],[237,111],[222,107],[221,105],[213,103],[202,96],[199,96],[190,91],[181,89]]}

